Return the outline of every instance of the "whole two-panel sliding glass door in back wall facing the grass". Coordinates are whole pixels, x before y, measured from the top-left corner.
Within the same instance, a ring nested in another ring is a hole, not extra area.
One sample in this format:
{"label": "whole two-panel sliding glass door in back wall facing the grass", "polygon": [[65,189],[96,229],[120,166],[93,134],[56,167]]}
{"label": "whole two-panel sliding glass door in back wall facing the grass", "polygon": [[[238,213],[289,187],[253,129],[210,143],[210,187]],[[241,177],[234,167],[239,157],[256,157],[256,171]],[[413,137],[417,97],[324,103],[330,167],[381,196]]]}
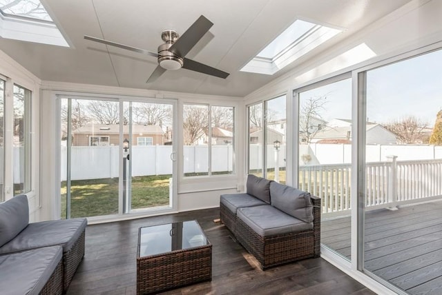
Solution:
{"label": "whole two-panel sliding glass door in back wall facing the grass", "polygon": [[61,99],[61,217],[173,206],[175,102]]}

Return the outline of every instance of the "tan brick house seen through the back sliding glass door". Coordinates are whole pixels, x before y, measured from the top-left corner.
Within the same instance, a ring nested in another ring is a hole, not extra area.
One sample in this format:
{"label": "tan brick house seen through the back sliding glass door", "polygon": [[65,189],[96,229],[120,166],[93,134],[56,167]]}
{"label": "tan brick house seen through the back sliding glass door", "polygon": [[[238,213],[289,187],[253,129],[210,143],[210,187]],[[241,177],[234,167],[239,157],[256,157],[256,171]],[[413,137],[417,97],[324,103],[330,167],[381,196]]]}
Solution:
{"label": "tan brick house seen through the back sliding glass door", "polygon": [[[123,125],[123,137],[131,145],[164,145],[166,134],[159,125]],[[119,125],[87,124],[73,131],[73,145],[119,145]]]}

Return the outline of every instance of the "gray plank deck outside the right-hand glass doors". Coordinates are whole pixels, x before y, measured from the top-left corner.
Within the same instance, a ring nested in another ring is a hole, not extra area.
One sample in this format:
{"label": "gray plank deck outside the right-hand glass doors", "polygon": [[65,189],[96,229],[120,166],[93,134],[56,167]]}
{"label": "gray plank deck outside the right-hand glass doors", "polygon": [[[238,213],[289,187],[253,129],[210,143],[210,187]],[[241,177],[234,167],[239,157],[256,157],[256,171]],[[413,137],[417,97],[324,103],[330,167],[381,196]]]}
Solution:
{"label": "gray plank deck outside the right-hand glass doors", "polygon": [[[323,221],[321,242],[350,258],[350,218]],[[365,268],[410,294],[442,294],[442,201],[368,212]]]}

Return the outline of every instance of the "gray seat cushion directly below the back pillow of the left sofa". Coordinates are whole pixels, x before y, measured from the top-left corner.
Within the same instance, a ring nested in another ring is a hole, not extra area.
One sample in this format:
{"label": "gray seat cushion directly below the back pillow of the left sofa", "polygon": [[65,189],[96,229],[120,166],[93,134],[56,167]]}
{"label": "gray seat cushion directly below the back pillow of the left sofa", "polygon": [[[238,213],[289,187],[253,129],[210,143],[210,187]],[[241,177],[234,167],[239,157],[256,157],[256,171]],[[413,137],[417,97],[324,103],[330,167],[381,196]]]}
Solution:
{"label": "gray seat cushion directly below the back pillow of the left sofa", "polygon": [[53,245],[61,245],[63,252],[68,252],[86,225],[86,218],[29,223],[12,241],[0,247],[0,254]]}

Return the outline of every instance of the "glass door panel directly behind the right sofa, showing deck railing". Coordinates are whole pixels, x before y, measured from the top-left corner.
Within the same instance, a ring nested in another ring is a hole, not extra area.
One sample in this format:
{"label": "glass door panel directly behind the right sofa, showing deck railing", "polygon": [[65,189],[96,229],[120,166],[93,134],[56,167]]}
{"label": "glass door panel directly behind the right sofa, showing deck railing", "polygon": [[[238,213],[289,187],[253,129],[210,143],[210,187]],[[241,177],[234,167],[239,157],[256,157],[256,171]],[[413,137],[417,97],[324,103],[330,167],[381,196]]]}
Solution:
{"label": "glass door panel directly behind the right sofa, showing deck railing", "polygon": [[321,198],[323,245],[351,260],[352,81],[299,93],[298,185]]}

